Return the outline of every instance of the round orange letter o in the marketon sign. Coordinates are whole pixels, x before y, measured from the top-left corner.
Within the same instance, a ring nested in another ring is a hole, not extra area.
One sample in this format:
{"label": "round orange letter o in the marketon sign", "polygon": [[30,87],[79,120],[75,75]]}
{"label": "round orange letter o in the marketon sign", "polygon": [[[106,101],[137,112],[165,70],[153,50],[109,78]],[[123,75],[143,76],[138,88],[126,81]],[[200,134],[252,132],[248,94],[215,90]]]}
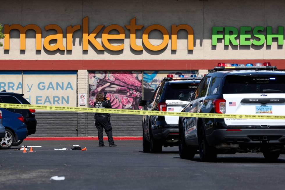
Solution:
{"label": "round orange letter o in the marketon sign", "polygon": [[[160,45],[155,46],[149,42],[148,34],[152,30],[159,30],[163,34],[163,41]],[[145,29],[145,31],[143,32],[143,43],[147,49],[150,49],[152,51],[159,51],[159,50],[165,48],[168,44],[168,40],[169,40],[168,31],[166,30],[166,28],[164,28],[163,26],[158,25],[158,24],[154,24],[154,25],[147,27]]]}

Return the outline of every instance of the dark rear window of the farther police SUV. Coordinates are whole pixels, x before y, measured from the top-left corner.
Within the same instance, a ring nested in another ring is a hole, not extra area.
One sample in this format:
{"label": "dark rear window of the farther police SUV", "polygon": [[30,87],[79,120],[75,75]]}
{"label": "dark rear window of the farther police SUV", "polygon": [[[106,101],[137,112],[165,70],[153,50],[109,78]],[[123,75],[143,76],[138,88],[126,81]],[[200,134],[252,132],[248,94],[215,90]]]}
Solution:
{"label": "dark rear window of the farther police SUV", "polygon": [[186,84],[170,84],[163,86],[159,99],[165,100],[179,100],[181,93],[191,93],[197,88],[198,83],[186,83]]}

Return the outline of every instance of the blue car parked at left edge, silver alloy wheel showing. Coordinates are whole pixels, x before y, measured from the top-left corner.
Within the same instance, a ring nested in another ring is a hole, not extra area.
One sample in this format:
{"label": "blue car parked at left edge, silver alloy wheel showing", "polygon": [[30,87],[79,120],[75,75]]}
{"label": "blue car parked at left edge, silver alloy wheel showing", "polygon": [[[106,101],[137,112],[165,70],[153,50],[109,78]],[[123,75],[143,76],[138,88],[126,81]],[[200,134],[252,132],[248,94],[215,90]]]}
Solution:
{"label": "blue car parked at left edge, silver alloy wheel showing", "polygon": [[25,124],[24,117],[20,113],[14,113],[3,108],[0,108],[0,113],[1,125],[5,127],[5,136],[0,138],[0,148],[9,149],[14,142],[27,137],[27,126]]}

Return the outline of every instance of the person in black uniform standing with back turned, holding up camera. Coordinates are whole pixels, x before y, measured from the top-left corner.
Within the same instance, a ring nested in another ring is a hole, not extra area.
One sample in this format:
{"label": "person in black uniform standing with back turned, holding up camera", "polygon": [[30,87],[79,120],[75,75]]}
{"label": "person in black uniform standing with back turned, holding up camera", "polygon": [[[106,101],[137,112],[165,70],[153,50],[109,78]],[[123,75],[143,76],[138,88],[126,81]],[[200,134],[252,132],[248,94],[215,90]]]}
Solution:
{"label": "person in black uniform standing with back turned, holding up camera", "polygon": [[[105,99],[105,100],[104,100]],[[112,108],[111,102],[108,98],[104,97],[102,93],[98,93],[94,102],[95,108]],[[117,146],[113,140],[112,126],[110,122],[110,114],[108,113],[95,113],[95,126],[98,130],[99,146],[105,146],[103,141],[103,128],[108,136],[109,146]]]}

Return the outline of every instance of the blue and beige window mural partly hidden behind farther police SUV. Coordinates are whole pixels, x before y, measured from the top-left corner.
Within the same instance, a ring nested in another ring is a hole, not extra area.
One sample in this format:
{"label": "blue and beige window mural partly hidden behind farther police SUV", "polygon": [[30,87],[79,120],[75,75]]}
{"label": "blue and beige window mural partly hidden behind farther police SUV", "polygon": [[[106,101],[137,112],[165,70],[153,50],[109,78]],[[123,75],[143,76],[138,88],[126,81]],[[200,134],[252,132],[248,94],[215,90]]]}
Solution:
{"label": "blue and beige window mural partly hidden behind farther police SUV", "polygon": [[167,77],[168,74],[173,75],[190,75],[197,74],[197,70],[188,70],[188,71],[144,71],[143,72],[143,95],[144,100],[150,100],[152,95],[164,77]]}

